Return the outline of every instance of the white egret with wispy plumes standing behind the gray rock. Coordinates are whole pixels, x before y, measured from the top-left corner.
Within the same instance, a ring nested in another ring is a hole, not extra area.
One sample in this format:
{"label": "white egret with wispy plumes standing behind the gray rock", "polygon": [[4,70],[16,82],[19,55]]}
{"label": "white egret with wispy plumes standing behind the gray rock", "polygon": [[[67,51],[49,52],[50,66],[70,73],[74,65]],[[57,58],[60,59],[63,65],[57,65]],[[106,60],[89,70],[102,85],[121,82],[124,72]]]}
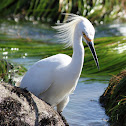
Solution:
{"label": "white egret with wispy plumes standing behind the gray rock", "polygon": [[57,54],[36,62],[24,75],[20,87],[26,88],[61,113],[75,90],[84,62],[82,38],[89,46],[97,67],[99,63],[94,49],[95,29],[91,22],[75,14],[67,14],[68,20],[54,27],[57,37],[66,46],[73,46],[72,58]]}

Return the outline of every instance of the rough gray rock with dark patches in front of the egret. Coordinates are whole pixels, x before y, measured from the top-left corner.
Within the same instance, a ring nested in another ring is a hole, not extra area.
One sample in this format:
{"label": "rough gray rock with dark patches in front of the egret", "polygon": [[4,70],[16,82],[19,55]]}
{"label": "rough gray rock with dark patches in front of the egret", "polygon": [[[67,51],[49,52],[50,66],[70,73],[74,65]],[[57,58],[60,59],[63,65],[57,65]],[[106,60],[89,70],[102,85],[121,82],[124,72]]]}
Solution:
{"label": "rough gray rock with dark patches in front of the egret", "polygon": [[62,117],[32,93],[0,84],[0,126],[65,126]]}

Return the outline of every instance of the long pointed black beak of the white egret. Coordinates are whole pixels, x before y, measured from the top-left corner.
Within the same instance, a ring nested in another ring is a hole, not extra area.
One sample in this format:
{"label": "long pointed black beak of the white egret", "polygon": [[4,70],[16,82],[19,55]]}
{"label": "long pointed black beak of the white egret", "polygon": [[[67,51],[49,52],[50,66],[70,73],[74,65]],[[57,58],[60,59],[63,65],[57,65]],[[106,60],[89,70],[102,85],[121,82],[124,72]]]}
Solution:
{"label": "long pointed black beak of the white egret", "polygon": [[95,52],[95,48],[94,48],[94,45],[92,44],[92,42],[87,42],[91,52],[92,52],[92,55],[93,55],[93,58],[95,60],[95,63],[96,63],[96,66],[98,68],[98,70],[100,70],[100,67],[99,67],[99,62],[98,62],[98,58],[97,58],[97,54]]}

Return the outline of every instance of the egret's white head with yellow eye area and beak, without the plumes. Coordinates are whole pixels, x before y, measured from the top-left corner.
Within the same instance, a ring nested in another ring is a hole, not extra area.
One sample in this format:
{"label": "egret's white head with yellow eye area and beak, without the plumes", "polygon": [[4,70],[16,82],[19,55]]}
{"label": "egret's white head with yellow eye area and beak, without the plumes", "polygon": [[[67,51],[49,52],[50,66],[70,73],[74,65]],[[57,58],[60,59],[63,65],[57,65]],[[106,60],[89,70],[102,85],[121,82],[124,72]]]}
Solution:
{"label": "egret's white head with yellow eye area and beak, without the plumes", "polygon": [[91,50],[91,53],[93,55],[93,58],[99,70],[99,62],[98,62],[97,54],[94,48],[95,29],[93,25],[91,24],[91,22],[86,18],[83,18],[83,20],[80,21],[79,29],[80,29],[80,32],[81,32],[80,34],[83,40],[86,42],[86,44]]}

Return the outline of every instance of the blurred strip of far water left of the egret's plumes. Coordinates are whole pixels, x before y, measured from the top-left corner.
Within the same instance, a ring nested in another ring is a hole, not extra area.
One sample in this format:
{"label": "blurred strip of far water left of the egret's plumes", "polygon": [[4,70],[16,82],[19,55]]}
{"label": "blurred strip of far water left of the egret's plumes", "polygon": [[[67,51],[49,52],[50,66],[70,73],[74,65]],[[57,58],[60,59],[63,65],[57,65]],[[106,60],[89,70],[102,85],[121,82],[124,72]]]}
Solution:
{"label": "blurred strip of far water left of the egret's plumes", "polygon": [[5,33],[10,38],[27,38],[41,40],[44,42],[54,42],[54,31],[50,25],[33,24],[32,22],[10,23],[2,22],[0,24],[0,33]]}

